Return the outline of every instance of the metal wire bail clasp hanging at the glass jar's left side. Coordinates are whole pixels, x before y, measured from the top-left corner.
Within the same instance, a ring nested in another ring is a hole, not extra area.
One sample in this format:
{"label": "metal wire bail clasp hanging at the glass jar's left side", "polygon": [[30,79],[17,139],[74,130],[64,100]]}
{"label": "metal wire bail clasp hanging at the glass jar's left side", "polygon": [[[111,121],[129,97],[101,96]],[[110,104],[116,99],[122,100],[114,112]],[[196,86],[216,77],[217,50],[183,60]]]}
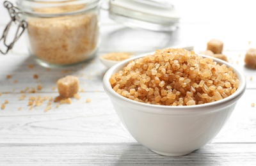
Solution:
{"label": "metal wire bail clasp hanging at the glass jar's left side", "polygon": [[[8,10],[11,20],[7,24],[7,26],[4,28],[3,35],[0,38],[0,42],[3,41],[3,44],[6,47],[5,51],[0,49],[1,54],[7,54],[8,51],[13,48],[14,43],[17,40],[19,40],[22,33],[24,33],[26,27],[28,27],[28,22],[26,22],[25,20],[20,20],[20,17],[19,17],[20,12],[17,7],[13,6],[13,4],[10,3],[9,1],[4,1],[4,7]],[[8,44],[6,42],[6,39],[7,39],[8,33],[10,31],[10,27],[12,26],[13,22],[18,23],[19,25],[17,27],[17,31],[15,33],[13,41]]]}

